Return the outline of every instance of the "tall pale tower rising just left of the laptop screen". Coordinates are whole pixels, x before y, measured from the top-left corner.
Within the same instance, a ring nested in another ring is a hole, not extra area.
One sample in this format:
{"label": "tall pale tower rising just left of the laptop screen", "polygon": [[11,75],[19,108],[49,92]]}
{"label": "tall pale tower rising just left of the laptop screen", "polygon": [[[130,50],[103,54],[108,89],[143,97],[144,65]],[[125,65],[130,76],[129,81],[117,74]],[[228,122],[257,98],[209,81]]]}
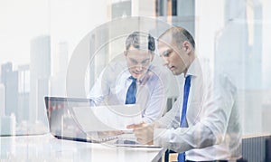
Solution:
{"label": "tall pale tower rising just left of the laptop screen", "polygon": [[47,123],[44,96],[49,93],[50,76],[51,41],[49,35],[42,35],[34,38],[31,42],[29,119],[32,122]]}

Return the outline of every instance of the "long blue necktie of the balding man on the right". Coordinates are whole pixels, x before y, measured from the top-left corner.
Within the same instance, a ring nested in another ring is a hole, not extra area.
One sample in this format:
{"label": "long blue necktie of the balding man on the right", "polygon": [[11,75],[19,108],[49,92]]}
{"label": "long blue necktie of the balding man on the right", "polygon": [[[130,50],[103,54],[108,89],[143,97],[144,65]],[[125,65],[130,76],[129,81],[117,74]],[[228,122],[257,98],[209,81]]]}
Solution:
{"label": "long blue necktie of the balding man on the right", "polygon": [[[185,83],[184,83],[184,90],[183,90],[183,101],[182,101],[182,117],[180,121],[180,127],[182,128],[187,128],[187,121],[186,121],[186,110],[187,110],[187,101],[188,101],[188,96],[189,96],[189,91],[190,91],[190,82],[191,82],[191,75],[188,75],[185,78]],[[184,152],[178,154],[178,162],[184,162],[185,161],[185,155]]]}

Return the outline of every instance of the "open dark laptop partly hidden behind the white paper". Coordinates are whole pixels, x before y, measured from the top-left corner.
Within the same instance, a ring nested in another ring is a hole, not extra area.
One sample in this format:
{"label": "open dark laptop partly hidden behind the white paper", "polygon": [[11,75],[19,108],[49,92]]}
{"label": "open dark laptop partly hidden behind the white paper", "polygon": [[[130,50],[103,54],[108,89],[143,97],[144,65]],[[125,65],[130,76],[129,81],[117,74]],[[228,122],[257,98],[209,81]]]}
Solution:
{"label": "open dark laptop partly hidden behind the white paper", "polygon": [[[72,113],[72,108],[89,107],[89,99],[44,97],[47,117],[51,135],[55,138],[70,139],[85,142],[105,142],[116,139],[117,136],[107,135],[104,131],[95,131],[96,125],[93,123],[93,131],[85,132],[76,117]],[[90,116],[89,116],[90,118]],[[97,122],[97,121],[94,121]],[[103,126],[105,130],[106,126]],[[107,128],[109,130],[110,128]]]}

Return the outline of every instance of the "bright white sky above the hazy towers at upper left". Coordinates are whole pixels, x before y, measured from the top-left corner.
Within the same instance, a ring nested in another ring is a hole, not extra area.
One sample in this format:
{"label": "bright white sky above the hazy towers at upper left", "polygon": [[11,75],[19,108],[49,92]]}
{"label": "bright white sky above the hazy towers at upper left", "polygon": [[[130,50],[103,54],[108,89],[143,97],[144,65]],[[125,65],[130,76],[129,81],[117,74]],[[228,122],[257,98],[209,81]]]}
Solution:
{"label": "bright white sky above the hazy towers at upper left", "polygon": [[86,33],[106,22],[107,0],[98,1],[96,5],[91,2],[1,0],[0,65],[13,62],[16,69],[18,65],[29,63],[31,40],[44,34],[51,34],[52,53],[61,42],[67,42],[71,52]]}

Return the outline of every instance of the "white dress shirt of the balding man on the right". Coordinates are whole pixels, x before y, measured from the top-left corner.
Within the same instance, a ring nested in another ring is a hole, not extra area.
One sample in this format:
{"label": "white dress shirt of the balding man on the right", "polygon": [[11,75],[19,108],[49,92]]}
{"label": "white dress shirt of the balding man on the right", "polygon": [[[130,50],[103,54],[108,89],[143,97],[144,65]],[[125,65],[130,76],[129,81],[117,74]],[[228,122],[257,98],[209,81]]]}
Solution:
{"label": "white dress shirt of the balding man on the right", "polygon": [[187,105],[188,128],[180,128],[182,93],[154,129],[154,145],[185,151],[186,159],[235,160],[241,157],[241,127],[237,89],[225,76],[211,74],[207,62],[196,58],[186,75],[192,75]]}

